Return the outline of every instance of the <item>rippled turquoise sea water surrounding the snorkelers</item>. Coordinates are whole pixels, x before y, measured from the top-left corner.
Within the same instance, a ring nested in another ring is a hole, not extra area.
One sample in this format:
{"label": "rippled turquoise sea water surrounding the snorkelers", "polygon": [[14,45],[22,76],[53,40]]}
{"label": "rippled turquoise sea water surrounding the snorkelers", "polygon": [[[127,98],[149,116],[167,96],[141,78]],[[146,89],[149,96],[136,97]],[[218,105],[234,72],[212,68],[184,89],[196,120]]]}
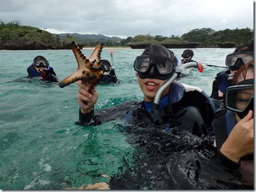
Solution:
{"label": "rippled turquoise sea water surrounding the snorkelers", "polygon": [[[184,49],[173,49],[179,60]],[[197,48],[194,60],[205,70],[187,70],[179,81],[198,86],[210,95],[216,73],[224,70],[225,56],[234,49]],[[91,50],[83,50],[89,57]],[[96,109],[143,98],[133,62],[143,50],[113,49],[116,76],[121,84],[99,85]],[[35,56],[45,56],[59,79],[77,69],[71,50],[0,51],[0,189],[59,190],[85,183],[107,182],[102,175],[118,172],[122,157],[132,152],[116,122],[97,127],[76,125],[77,90],[74,83],[61,89],[39,79],[26,79]],[[104,48],[102,59],[110,60]],[[111,114],[110,114],[111,115]]]}

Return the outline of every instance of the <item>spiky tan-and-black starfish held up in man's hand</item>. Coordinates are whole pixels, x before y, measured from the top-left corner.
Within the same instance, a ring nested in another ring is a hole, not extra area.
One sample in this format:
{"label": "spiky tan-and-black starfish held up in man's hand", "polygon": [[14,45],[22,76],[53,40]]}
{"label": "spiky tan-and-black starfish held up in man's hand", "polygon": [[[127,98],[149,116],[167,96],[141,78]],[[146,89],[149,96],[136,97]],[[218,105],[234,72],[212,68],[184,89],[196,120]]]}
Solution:
{"label": "spiky tan-and-black starfish held up in man's hand", "polygon": [[104,43],[99,43],[92,52],[89,59],[86,59],[86,56],[81,52],[81,49],[78,47],[77,43],[74,41],[71,42],[71,48],[73,54],[75,55],[75,59],[77,59],[78,68],[76,72],[64,78],[61,83],[59,83],[59,87],[66,87],[78,80],[88,84],[90,89],[96,86],[100,77],[102,76],[100,53],[102,51],[103,45]]}

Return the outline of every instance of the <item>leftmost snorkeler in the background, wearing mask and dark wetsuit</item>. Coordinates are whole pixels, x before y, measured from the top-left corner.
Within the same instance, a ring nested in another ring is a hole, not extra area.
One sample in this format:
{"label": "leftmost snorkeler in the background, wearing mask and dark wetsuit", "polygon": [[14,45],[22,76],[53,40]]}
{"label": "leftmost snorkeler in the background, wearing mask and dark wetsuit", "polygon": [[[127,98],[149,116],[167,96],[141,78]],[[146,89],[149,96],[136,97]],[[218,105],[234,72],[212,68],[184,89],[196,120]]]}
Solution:
{"label": "leftmost snorkeler in the background, wearing mask and dark wetsuit", "polygon": [[43,56],[36,56],[33,63],[27,69],[27,78],[39,78],[42,81],[59,82],[55,71]]}

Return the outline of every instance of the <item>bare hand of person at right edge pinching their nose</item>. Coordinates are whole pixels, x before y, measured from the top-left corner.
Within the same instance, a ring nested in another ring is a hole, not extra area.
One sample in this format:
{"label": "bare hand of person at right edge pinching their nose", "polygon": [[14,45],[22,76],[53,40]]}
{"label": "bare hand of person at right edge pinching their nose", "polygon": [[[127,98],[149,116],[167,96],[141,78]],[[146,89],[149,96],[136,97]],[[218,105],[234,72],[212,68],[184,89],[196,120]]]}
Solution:
{"label": "bare hand of person at right edge pinching their nose", "polygon": [[249,111],[228,135],[220,152],[229,160],[239,163],[240,158],[254,153],[254,113]]}

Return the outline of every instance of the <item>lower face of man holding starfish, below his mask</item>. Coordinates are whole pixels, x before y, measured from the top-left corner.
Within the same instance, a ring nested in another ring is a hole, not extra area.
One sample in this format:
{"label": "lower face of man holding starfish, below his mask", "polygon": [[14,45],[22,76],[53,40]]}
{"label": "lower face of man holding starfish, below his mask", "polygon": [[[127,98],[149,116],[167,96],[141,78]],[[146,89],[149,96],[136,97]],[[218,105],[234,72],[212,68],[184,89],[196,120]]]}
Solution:
{"label": "lower face of man holding starfish, below his mask", "polygon": [[[140,84],[140,89],[144,94],[144,99],[146,102],[153,102],[157,90],[159,89],[159,87],[162,86],[162,84],[164,84],[167,81],[167,80],[162,81],[159,79],[149,79],[149,78],[141,79],[138,76],[138,73],[137,73],[137,78],[138,78],[138,84]],[[170,88],[165,89],[162,96],[167,95],[169,90]]]}

